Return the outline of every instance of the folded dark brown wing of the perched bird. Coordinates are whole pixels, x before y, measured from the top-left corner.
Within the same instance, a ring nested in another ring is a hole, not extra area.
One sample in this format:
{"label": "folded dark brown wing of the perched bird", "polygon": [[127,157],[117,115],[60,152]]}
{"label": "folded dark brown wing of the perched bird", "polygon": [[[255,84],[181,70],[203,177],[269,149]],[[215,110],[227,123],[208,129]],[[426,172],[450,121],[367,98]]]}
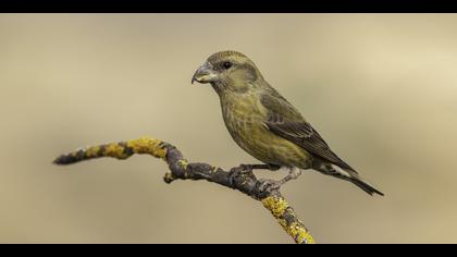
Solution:
{"label": "folded dark brown wing of the perched bird", "polygon": [[330,149],[311,124],[279,93],[262,95],[261,103],[269,113],[263,123],[272,133],[297,144],[313,156],[355,171]]}

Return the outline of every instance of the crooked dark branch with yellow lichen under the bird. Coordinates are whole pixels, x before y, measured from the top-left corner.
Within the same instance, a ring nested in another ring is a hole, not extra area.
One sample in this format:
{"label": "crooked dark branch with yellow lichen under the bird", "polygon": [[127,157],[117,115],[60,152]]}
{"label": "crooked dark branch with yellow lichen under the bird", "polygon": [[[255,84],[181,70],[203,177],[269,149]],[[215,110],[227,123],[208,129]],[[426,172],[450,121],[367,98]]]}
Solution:
{"label": "crooked dark branch with yellow lichen under the bird", "polygon": [[242,164],[232,168],[230,171],[224,171],[208,163],[190,163],[184,159],[183,154],[176,147],[152,137],[78,149],[58,157],[54,163],[71,164],[100,157],[126,159],[135,154],[146,154],[166,161],[170,169],[163,178],[166,183],[175,180],[206,180],[243,192],[261,201],[296,243],[314,243],[305,224],[297,218],[294,209],[282,196],[280,188],[268,187],[265,186],[268,184],[267,180],[258,180],[254,175],[252,169],[268,169],[268,166]]}

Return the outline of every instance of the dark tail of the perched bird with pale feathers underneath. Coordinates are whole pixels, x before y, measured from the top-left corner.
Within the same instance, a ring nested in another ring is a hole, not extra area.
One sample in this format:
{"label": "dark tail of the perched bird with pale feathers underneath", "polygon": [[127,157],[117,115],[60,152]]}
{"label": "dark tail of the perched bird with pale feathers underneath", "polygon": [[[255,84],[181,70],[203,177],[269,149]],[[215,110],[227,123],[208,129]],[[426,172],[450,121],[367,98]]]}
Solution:
{"label": "dark tail of the perched bird with pale feathers underneath", "polygon": [[314,164],[313,169],[326,175],[353,182],[355,185],[360,187],[360,189],[367,192],[370,195],[378,194],[384,196],[384,194],[381,191],[374,188],[374,186],[370,185],[368,182],[365,182],[354,170],[343,169],[333,163],[319,163],[317,166]]}

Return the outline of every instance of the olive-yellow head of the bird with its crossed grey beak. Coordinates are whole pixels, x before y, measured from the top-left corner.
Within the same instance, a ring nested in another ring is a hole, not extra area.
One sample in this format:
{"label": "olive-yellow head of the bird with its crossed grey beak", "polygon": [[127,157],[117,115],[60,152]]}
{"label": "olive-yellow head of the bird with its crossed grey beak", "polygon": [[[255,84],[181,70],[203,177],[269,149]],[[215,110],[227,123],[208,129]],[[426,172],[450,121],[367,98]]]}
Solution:
{"label": "olive-yellow head of the bird with its crossed grey beak", "polygon": [[263,77],[249,58],[236,51],[221,51],[207,59],[195,72],[192,83],[210,83],[218,91],[245,91],[257,79]]}

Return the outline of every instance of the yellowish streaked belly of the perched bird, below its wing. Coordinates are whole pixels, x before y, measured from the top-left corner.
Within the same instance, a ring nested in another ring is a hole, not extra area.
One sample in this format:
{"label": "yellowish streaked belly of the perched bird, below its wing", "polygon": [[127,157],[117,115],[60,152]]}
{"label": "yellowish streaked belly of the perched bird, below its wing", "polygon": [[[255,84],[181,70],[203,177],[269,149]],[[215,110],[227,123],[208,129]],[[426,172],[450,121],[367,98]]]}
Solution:
{"label": "yellowish streaked belly of the perched bird, below its wing", "polygon": [[233,139],[256,159],[271,164],[308,169],[310,155],[301,147],[288,142],[263,126],[256,119],[228,117],[225,124]]}

